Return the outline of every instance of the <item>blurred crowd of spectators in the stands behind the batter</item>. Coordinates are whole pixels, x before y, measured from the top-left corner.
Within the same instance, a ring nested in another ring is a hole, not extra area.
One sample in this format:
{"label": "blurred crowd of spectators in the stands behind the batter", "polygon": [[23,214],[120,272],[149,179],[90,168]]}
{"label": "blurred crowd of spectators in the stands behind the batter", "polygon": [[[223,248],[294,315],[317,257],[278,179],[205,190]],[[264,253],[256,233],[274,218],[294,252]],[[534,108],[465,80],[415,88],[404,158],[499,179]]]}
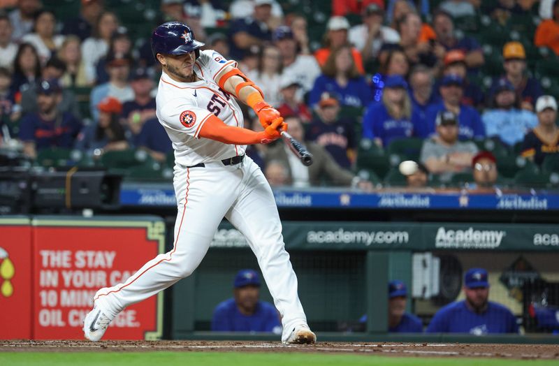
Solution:
{"label": "blurred crowd of spectators in the stands behind the batter", "polygon": [[402,160],[419,163],[415,187],[518,184],[559,168],[558,0],[300,3],[147,1],[150,16],[123,22],[120,1],[81,0],[77,16],[58,17],[40,0],[3,1],[0,148],[89,165],[144,150],[145,177],[161,175],[174,159],[149,38],[176,20],[238,61],[314,154],[306,168],[283,145],[248,147],[270,184],[405,185]]}

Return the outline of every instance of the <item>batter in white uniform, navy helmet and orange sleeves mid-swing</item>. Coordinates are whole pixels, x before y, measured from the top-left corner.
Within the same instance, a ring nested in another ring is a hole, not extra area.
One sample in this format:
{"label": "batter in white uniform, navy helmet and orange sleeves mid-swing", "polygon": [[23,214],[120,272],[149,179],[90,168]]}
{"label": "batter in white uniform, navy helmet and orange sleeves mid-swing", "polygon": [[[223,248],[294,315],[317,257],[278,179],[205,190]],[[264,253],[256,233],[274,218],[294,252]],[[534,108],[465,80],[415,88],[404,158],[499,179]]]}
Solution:
{"label": "batter in white uniform, navy helmet and orange sleeves mid-swing", "polygon": [[[310,344],[316,336],[297,293],[297,277],[285,251],[274,196],[246,145],[266,144],[287,125],[263,100],[259,87],[180,22],[152,34],[152,52],[163,73],[157,91],[157,118],[175,149],[177,219],[173,249],[159,254],[124,284],[101,288],[85,317],[84,334],[103,337],[122,310],[188,277],[204,258],[217,226],[226,217],[245,237],[282,317],[284,344]],[[264,131],[243,128],[235,96],[258,115]]]}

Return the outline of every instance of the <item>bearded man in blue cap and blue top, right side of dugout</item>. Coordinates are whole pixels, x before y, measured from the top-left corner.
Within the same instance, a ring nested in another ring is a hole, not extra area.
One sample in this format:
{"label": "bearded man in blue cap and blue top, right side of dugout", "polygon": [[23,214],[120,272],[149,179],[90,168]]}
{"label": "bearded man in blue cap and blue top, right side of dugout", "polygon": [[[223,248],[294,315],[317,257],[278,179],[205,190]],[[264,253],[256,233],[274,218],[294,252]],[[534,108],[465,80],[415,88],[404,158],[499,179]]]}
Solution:
{"label": "bearded man in blue cap and blue top, right side of dugout", "polygon": [[516,318],[509,309],[489,301],[488,273],[470,268],[464,275],[465,299],[439,309],[427,327],[428,333],[487,335],[518,333]]}

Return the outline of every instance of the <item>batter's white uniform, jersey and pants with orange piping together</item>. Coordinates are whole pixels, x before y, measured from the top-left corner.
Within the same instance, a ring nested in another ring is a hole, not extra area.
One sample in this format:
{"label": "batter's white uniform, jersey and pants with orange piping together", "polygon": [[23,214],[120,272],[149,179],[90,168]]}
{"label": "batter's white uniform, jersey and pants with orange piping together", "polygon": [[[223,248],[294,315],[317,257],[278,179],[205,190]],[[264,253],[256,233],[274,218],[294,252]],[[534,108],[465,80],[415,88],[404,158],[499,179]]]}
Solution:
{"label": "batter's white uniform, jersey and pants with orange piping together", "polygon": [[[282,224],[270,185],[248,156],[237,164],[222,162],[244,154],[246,146],[198,137],[210,113],[229,126],[242,127],[239,105],[219,89],[215,80],[228,65],[236,66],[236,62],[205,50],[194,66],[200,81],[176,82],[166,73],[161,75],[157,117],[175,149],[173,183],[178,214],[173,249],[147,262],[124,284],[101,288],[94,300],[97,306],[116,315],[128,305],[189,276],[202,261],[217,226],[226,217],[245,235],[258,259],[282,316],[285,340],[294,325],[307,321],[298,298],[297,277],[284,249]],[[196,166],[200,163],[204,166]]]}

